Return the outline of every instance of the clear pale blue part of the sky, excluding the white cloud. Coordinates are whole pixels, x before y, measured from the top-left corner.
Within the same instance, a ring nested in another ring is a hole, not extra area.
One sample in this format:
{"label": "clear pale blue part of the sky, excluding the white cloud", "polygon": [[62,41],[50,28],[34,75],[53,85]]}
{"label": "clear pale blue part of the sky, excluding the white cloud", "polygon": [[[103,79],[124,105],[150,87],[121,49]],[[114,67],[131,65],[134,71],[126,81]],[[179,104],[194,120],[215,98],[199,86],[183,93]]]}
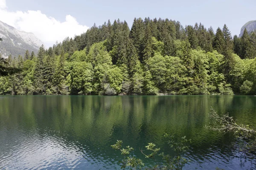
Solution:
{"label": "clear pale blue part of the sky, excluding the white cloud", "polygon": [[[126,20],[131,27],[134,17],[169,18],[185,25],[203,23],[214,30],[226,23],[232,34],[256,20],[256,0],[0,0],[6,1],[6,11],[40,10],[60,23],[70,15],[77,24],[91,27],[102,25],[108,19]],[[1,18],[0,18],[1,20]],[[16,23],[12,23],[15,25]],[[16,26],[19,27],[19,26]],[[22,27],[18,29],[23,29]],[[81,27],[82,29],[82,27]],[[81,29],[78,29],[81,32]],[[24,30],[27,31],[27,30]],[[34,30],[32,30],[33,32]],[[80,33],[78,31],[78,33]],[[64,34],[65,32],[63,32]],[[70,33],[71,35],[71,33]],[[39,37],[40,38],[40,37]]]}

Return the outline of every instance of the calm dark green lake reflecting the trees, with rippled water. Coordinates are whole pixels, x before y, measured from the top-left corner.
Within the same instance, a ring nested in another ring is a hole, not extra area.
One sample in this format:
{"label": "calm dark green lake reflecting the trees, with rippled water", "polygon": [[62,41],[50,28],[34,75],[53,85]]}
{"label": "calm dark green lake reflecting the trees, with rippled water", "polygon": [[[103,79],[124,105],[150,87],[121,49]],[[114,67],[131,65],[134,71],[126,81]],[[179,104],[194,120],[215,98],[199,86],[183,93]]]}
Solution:
{"label": "calm dark green lake reflecting the trees, with rippled water", "polygon": [[164,133],[192,139],[184,169],[256,169],[235,136],[205,128],[211,107],[256,126],[255,96],[0,96],[0,169],[120,169],[117,139],[148,165],[148,142],[174,155]]}

